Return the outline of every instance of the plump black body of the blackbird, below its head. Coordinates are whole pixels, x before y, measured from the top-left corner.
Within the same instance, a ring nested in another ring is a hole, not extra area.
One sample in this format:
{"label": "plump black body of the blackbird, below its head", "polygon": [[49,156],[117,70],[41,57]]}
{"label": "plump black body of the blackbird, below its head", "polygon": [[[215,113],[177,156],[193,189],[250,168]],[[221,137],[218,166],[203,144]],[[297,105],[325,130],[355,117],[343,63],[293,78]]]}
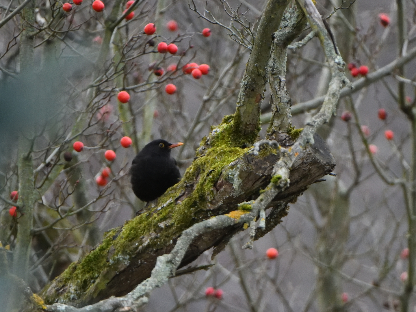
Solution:
{"label": "plump black body of the blackbird, below its head", "polygon": [[131,186],[142,201],[153,201],[181,178],[172,157],[138,154],[130,168]]}

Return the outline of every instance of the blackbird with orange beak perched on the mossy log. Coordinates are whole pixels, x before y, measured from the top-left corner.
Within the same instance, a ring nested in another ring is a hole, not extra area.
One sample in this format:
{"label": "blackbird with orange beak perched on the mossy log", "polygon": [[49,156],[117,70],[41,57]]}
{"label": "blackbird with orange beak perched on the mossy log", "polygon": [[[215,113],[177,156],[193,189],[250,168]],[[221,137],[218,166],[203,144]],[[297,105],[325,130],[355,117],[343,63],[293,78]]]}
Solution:
{"label": "blackbird with orange beak perched on the mossy log", "polygon": [[153,201],[179,182],[181,174],[171,149],[183,143],[154,140],[146,144],[131,162],[131,186],[142,201]]}

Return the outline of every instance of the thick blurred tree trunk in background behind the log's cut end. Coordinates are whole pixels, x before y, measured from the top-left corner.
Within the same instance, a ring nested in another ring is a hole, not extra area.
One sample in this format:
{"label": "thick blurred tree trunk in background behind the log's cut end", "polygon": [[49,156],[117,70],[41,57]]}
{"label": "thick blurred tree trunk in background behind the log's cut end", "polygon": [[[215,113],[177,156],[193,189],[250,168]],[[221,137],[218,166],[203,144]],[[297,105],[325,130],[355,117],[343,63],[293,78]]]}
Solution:
{"label": "thick blurred tree trunk in background behind the log's cut end", "polygon": [[[332,0],[328,9],[339,7],[341,0]],[[355,7],[338,10],[330,19],[337,47],[342,58],[348,62],[355,35]],[[327,92],[331,73],[323,67],[315,96]],[[331,134],[334,118],[320,127],[318,133],[327,139]],[[323,224],[317,225],[317,293],[320,311],[342,311],[342,287],[337,270],[341,270],[345,261],[345,244],[349,237],[349,194],[346,193],[341,181],[333,176],[325,176],[327,181],[312,185],[310,194],[313,196]]]}

